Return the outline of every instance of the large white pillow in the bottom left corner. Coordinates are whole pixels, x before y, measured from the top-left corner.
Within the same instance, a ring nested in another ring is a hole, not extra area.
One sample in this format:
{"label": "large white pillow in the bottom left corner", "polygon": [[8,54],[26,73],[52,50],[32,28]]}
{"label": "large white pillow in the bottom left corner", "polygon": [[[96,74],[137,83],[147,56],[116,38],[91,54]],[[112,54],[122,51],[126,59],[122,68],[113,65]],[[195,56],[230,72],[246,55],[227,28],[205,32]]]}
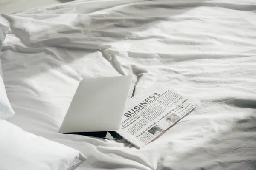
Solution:
{"label": "large white pillow in the bottom left corner", "polygon": [[86,157],[0,120],[0,170],[74,170]]}

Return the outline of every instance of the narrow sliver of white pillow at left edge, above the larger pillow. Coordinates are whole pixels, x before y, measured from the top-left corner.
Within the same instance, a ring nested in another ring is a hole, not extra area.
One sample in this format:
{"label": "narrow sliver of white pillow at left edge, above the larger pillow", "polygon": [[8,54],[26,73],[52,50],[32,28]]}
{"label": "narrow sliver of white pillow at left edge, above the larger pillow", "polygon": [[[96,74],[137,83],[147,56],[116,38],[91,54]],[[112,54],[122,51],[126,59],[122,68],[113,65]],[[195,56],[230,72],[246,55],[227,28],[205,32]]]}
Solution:
{"label": "narrow sliver of white pillow at left edge, above the larger pillow", "polygon": [[[2,50],[3,40],[7,34],[8,27],[0,24],[0,52]],[[6,119],[15,114],[7,98],[5,86],[2,79],[2,62],[0,58],[0,119]]]}

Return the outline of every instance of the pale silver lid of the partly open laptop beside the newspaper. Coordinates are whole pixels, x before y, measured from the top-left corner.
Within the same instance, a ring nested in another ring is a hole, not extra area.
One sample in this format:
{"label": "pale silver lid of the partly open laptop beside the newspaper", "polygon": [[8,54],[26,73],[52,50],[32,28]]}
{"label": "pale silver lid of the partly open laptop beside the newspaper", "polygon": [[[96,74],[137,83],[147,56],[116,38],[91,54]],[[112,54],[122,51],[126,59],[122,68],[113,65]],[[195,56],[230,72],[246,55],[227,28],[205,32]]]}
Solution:
{"label": "pale silver lid of the partly open laptop beside the newspaper", "polygon": [[59,133],[119,130],[133,91],[132,76],[83,79],[70,103]]}

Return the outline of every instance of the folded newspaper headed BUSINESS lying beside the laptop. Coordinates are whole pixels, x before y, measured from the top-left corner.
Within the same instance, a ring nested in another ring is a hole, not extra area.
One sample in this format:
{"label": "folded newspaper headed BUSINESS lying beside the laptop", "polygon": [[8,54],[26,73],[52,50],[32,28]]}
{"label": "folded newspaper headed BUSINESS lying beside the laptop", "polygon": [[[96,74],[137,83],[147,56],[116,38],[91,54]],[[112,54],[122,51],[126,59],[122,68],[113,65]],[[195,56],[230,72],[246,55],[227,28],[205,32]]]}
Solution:
{"label": "folded newspaper headed BUSINESS lying beside the laptop", "polygon": [[120,136],[142,148],[190,113],[199,101],[172,88],[156,86],[131,98],[126,105]]}

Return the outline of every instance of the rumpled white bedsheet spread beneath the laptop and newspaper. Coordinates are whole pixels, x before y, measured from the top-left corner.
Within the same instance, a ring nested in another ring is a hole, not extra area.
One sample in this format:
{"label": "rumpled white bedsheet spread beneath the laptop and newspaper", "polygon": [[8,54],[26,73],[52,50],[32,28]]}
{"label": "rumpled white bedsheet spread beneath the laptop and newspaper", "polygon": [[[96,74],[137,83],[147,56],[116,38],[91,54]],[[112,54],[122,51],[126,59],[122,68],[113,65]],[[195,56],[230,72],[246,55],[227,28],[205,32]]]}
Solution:
{"label": "rumpled white bedsheet spread beneath the laptop and newspaper", "polygon": [[[8,121],[83,152],[77,170],[255,170],[255,11],[253,0],[78,0],[2,15]],[[81,79],[129,74],[135,95],[157,82],[201,104],[142,149],[57,133]]]}

